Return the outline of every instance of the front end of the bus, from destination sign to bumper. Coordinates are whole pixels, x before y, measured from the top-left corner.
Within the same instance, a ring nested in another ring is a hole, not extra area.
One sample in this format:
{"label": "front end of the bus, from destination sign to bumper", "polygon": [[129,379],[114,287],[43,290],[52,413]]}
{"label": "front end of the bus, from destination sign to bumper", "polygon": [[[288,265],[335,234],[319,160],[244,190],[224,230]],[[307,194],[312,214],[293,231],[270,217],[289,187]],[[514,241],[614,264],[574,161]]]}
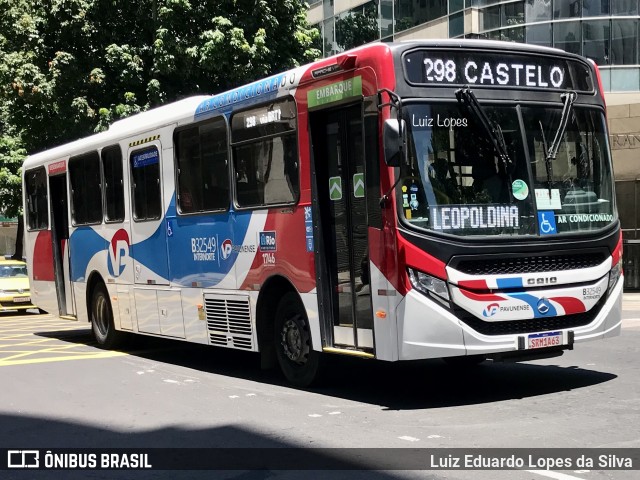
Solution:
{"label": "front end of the bus, from destination sign to bumper", "polygon": [[618,335],[622,242],[597,68],[497,42],[393,55],[398,359],[550,357]]}

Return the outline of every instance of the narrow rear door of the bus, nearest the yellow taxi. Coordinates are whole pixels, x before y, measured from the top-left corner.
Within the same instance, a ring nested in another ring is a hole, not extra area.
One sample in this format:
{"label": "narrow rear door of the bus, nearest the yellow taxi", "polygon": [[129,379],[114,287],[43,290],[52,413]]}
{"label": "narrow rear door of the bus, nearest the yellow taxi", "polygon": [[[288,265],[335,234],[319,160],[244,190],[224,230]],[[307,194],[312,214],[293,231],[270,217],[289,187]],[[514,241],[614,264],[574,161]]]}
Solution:
{"label": "narrow rear door of the bus, nearest the yellow taxi", "polygon": [[58,297],[58,313],[65,316],[75,316],[76,310],[69,261],[69,203],[67,199],[66,173],[49,177],[49,192],[51,198],[51,250]]}

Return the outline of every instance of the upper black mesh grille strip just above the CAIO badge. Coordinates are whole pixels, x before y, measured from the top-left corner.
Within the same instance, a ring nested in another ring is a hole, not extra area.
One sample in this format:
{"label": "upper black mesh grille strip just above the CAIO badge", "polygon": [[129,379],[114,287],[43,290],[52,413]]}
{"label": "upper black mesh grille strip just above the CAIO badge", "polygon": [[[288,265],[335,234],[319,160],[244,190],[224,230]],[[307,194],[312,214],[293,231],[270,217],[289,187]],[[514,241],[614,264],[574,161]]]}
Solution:
{"label": "upper black mesh grille strip just above the CAIO badge", "polygon": [[451,266],[468,275],[510,275],[522,273],[558,272],[578,270],[600,265],[607,256],[603,251],[579,254],[535,255],[483,259],[455,259]]}

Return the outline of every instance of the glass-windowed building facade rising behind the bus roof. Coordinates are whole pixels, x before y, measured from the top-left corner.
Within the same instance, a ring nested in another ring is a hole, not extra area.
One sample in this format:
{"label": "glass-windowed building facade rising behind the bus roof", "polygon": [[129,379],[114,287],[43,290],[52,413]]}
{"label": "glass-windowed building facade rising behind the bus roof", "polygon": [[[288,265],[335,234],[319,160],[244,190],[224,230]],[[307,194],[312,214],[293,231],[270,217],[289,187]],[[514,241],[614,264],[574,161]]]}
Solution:
{"label": "glass-windowed building facade rising behind the bus roof", "polygon": [[640,0],[311,1],[325,57],[376,40],[526,42],[592,58],[607,91],[640,91]]}

